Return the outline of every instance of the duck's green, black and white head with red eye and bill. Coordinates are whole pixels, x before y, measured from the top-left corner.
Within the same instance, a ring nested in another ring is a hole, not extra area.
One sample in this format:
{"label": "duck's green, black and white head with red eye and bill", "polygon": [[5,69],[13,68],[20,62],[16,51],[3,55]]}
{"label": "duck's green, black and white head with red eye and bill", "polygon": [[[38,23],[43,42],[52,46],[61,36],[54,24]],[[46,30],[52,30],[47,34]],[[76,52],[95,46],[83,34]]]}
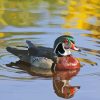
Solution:
{"label": "duck's green, black and white head with red eye and bill", "polygon": [[75,40],[72,36],[63,35],[58,37],[54,42],[54,54],[57,56],[67,56],[71,54],[72,50],[79,51],[80,49],[75,46]]}

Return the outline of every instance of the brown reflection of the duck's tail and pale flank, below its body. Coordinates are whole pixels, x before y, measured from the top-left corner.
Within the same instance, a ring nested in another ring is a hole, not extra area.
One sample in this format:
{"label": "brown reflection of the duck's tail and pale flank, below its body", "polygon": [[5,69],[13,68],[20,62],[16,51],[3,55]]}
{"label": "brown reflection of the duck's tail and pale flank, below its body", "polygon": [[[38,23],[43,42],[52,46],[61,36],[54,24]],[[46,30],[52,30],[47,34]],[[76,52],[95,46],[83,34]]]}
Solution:
{"label": "brown reflection of the duck's tail and pale flank, below its body", "polygon": [[34,68],[29,63],[25,63],[22,61],[17,61],[15,63],[11,62],[11,63],[6,64],[6,65],[8,67],[11,67],[11,68],[18,68],[20,70],[23,70],[32,76],[39,76],[39,77],[45,77],[45,78],[52,77],[51,70],[43,70],[43,69],[39,69],[39,68]]}

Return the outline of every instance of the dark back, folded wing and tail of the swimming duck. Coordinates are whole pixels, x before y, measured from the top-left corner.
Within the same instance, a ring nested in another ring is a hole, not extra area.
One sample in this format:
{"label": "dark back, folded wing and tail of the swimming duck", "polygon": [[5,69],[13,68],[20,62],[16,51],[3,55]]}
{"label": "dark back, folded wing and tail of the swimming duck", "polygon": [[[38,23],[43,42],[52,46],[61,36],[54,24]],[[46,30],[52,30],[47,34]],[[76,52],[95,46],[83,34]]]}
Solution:
{"label": "dark back, folded wing and tail of the swimming duck", "polygon": [[30,57],[45,57],[49,59],[53,59],[53,49],[42,46],[35,46],[31,41],[26,41],[28,44],[28,50],[20,50],[13,47],[7,47],[6,50],[15,56],[17,56],[20,60],[29,62]]}

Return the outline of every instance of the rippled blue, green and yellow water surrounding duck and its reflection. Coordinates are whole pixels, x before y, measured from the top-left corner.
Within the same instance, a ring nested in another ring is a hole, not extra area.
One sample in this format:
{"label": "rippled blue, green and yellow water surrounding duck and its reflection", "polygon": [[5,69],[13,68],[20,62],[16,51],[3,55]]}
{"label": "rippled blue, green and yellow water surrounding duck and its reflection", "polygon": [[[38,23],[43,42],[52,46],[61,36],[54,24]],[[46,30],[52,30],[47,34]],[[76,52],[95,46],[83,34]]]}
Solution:
{"label": "rippled blue, green and yellow water surrounding duck and its reflection", "polygon": [[[0,0],[0,98],[2,100],[63,100],[54,93],[51,79],[34,77],[6,64],[19,59],[7,46],[53,47],[61,35],[75,38],[81,52],[79,75],[72,80],[81,89],[71,100],[100,100],[99,0]],[[26,49],[26,48],[24,48]]]}

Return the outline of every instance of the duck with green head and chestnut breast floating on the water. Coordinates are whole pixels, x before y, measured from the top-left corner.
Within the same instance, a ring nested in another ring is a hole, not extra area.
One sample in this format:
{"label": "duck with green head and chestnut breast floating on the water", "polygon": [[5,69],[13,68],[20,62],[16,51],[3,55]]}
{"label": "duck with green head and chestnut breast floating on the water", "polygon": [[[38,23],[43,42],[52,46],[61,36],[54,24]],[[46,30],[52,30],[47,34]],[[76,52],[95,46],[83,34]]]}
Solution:
{"label": "duck with green head and chestnut breast floating on the water", "polygon": [[59,36],[54,41],[53,48],[36,46],[29,40],[26,40],[26,43],[27,50],[14,47],[7,47],[6,50],[37,70],[68,70],[80,67],[79,61],[71,54],[71,49],[80,51],[72,36]]}

